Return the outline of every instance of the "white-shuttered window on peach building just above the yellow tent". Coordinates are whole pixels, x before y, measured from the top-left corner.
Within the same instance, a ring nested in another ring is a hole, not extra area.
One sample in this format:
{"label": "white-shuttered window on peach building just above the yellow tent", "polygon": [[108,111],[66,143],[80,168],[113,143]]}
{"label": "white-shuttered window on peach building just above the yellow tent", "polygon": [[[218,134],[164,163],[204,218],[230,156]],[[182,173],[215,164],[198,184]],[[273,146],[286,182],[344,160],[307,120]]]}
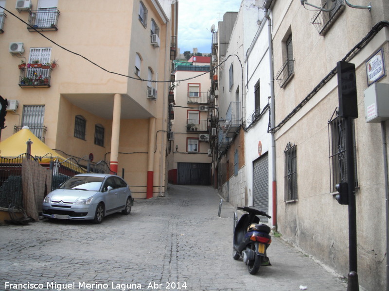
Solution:
{"label": "white-shuttered window on peach building just above the yellow tent", "polygon": [[45,105],[24,105],[21,126],[28,126],[37,138],[44,138]]}

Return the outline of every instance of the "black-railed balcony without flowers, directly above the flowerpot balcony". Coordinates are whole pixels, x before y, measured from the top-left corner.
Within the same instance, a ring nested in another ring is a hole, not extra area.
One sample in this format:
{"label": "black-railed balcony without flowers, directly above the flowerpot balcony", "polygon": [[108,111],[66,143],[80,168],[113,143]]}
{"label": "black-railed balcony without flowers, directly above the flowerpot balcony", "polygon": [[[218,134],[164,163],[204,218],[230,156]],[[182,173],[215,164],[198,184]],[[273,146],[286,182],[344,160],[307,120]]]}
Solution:
{"label": "black-railed balcony without flowers, directly above the flowerpot balcony", "polygon": [[28,17],[29,26],[27,29],[30,32],[57,31],[58,17],[58,9],[41,9],[30,11],[30,16]]}

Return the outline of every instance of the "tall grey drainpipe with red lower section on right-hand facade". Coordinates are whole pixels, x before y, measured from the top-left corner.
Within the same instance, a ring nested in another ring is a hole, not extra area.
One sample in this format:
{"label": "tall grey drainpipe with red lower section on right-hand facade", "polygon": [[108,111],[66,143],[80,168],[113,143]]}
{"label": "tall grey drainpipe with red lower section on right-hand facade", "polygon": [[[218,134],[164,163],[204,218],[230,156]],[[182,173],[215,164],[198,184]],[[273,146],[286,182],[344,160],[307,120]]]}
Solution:
{"label": "tall grey drainpipe with red lower section on right-hand facade", "polygon": [[[269,72],[270,72],[270,122],[271,125],[276,124],[275,106],[274,106],[274,71],[273,71],[273,49],[271,44],[271,19],[268,15],[272,0],[266,0],[264,4],[265,18],[267,19],[267,38],[269,46]],[[276,140],[274,132],[271,132],[271,177],[272,177],[272,196],[273,196],[273,215],[272,226],[277,229],[277,176],[276,176]]]}

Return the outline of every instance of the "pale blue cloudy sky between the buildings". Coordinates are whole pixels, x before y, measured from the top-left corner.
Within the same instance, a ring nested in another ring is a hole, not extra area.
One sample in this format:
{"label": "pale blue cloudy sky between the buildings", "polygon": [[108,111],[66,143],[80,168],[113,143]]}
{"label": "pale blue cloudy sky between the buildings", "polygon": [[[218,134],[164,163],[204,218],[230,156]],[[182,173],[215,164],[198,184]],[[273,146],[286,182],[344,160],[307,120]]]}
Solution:
{"label": "pale blue cloudy sky between the buildings", "polygon": [[223,20],[230,11],[239,11],[241,0],[178,0],[178,48],[210,53],[211,26]]}

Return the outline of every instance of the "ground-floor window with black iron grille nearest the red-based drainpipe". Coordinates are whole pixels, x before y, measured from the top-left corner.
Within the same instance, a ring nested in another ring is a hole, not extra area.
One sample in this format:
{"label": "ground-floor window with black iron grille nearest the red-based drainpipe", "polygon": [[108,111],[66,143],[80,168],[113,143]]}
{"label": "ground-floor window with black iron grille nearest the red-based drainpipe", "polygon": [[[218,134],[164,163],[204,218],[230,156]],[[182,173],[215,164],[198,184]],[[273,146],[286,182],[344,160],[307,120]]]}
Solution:
{"label": "ground-floor window with black iron grille nearest the red-based drainpipe", "polygon": [[288,143],[283,152],[285,201],[297,200],[297,146]]}

